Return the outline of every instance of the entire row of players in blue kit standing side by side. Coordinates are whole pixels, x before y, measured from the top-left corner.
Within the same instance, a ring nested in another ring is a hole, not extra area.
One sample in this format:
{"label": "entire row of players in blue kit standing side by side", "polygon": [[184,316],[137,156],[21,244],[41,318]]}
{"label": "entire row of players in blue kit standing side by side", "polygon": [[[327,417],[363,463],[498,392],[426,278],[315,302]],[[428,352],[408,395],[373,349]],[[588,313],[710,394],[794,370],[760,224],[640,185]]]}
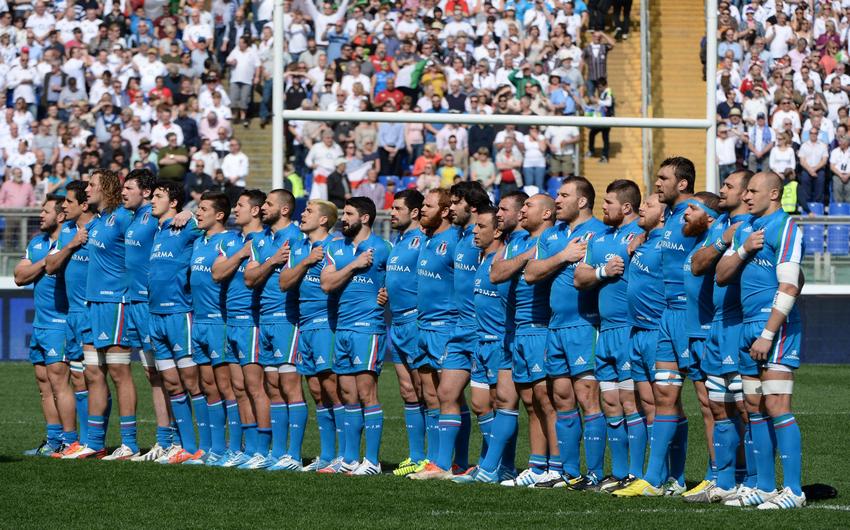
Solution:
{"label": "entire row of players in blue kit standing side by side", "polygon": [[[179,186],[96,171],[45,201],[15,270],[35,284],[30,356],[48,430],[38,452],[378,474],[389,349],[409,442],[396,475],[804,506],[791,413],[800,230],[773,173],[735,173],[719,196],[694,193],[694,181],[682,157],[661,164],[643,198],[615,180],[602,221],[581,177],[554,200],[515,192],[496,206],[477,183],[404,190],[390,244],[372,233],[367,198],[346,202],[335,233],[332,203],[310,201],[294,223],[285,190],[245,191],[232,209],[207,193],[193,217]],[[145,454],[131,348],[158,425]],[[108,455],[107,374],[122,440]],[[307,466],[302,377],[321,447]],[[685,378],[710,455],[687,492]],[[517,475],[520,401],[531,454]],[[483,438],[474,467],[470,407]]]}

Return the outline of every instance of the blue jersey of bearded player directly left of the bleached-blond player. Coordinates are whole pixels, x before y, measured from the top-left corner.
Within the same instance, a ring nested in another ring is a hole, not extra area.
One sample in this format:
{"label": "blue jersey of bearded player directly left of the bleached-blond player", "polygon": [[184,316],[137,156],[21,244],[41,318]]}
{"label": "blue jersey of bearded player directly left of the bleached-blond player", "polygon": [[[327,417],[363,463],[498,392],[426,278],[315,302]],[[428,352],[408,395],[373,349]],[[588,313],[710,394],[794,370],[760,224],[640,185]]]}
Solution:
{"label": "blue jersey of bearded player directly left of the bleached-blond player", "polygon": [[[289,247],[304,238],[304,234],[295,223],[290,223],[286,228],[272,231],[266,228],[259,237],[254,237],[251,245],[251,261],[263,264],[272,257],[284,242],[289,241]],[[280,290],[280,271],[284,264],[274,268],[269,277],[254,290],[260,292],[260,322],[289,322],[293,326],[298,324],[298,292],[284,293]]]}

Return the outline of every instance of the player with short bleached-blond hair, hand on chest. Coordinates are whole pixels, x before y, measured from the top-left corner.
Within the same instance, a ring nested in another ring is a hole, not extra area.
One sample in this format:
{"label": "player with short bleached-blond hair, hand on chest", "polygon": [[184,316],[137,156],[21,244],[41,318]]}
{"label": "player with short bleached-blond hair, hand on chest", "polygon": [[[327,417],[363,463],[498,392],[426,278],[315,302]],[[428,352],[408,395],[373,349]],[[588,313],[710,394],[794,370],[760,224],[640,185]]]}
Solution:
{"label": "player with short bleached-blond hair, hand on chest", "polygon": [[321,451],[310,465],[302,468],[300,442],[293,442],[298,443],[294,448],[297,452],[290,449],[289,454],[269,470],[319,471],[334,463],[336,426],[333,411],[340,405],[340,399],[332,371],[334,334],[328,315],[328,295],[321,288],[321,274],[325,249],[334,238],[331,230],[336,220],[337,209],[333,203],[322,200],[307,203],[300,226],[306,237],[291,243],[289,261],[279,278],[282,291],[294,291],[299,296],[298,373],[307,379],[307,387],[316,404]]}

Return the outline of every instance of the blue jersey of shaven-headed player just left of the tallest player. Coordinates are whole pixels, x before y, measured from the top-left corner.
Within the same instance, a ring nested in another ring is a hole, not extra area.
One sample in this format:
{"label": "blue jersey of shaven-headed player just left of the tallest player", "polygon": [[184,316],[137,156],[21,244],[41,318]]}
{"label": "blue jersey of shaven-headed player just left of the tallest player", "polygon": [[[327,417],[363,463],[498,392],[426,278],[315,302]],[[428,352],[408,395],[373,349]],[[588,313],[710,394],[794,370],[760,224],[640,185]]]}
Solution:
{"label": "blue jersey of shaven-headed player just left of the tallest player", "polygon": [[642,329],[658,329],[667,305],[661,271],[663,250],[659,247],[663,235],[663,228],[652,230],[629,261],[626,288],[629,323]]}

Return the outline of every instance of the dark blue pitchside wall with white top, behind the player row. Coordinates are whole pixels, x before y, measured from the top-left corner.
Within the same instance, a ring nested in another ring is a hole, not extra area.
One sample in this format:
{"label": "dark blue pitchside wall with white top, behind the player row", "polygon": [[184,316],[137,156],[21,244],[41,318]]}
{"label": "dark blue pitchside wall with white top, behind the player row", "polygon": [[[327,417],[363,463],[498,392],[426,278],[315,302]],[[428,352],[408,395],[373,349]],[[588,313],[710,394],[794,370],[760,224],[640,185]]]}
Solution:
{"label": "dark blue pitchside wall with white top, behind the player row", "polygon": [[[845,321],[841,315],[850,307],[850,288],[816,287],[806,286],[809,289],[804,288],[799,302],[804,326],[802,360],[850,363],[850,326],[841,325]],[[836,291],[842,294],[828,294]],[[27,360],[34,314],[32,289],[15,286],[11,278],[0,278],[0,361]]]}

